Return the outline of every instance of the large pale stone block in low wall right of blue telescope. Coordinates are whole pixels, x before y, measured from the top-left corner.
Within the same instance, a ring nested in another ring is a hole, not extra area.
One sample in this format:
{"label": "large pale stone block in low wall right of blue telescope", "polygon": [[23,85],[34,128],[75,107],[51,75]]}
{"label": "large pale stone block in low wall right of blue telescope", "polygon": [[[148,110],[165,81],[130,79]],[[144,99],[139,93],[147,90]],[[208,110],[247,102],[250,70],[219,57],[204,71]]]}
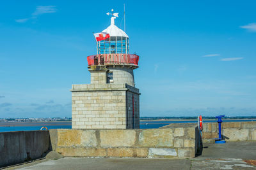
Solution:
{"label": "large pale stone block in low wall right of blue telescope", "polygon": [[223,129],[223,137],[227,141],[246,141],[249,139],[249,129]]}

